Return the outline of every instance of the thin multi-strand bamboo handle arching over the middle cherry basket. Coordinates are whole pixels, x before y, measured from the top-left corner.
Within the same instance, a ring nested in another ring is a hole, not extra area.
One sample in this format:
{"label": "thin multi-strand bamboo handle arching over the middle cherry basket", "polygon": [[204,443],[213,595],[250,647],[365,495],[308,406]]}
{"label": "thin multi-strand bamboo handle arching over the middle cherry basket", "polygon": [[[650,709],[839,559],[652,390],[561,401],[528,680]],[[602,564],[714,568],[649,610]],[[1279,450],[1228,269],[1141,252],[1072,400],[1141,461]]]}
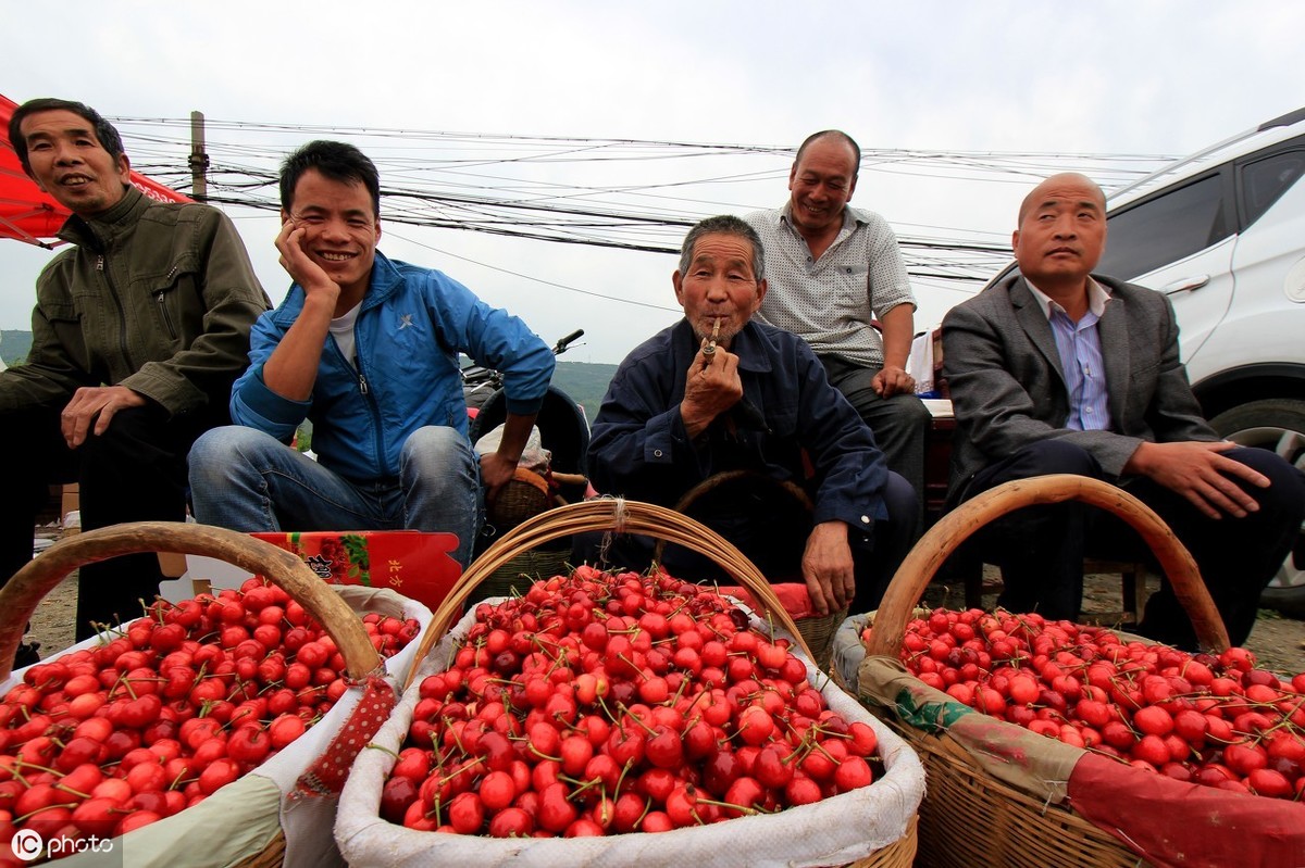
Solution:
{"label": "thin multi-strand bamboo handle arching over the middle cherry basket", "polygon": [[[797,624],[784,610],[779,597],[771,590],[770,583],[756,566],[731,542],[715,530],[680,515],[673,510],[642,503],[639,500],[595,499],[582,503],[569,503],[522,521],[519,525],[499,537],[484,553],[467,567],[453,585],[449,596],[431,619],[431,626],[422,635],[416,658],[425,659],[436,643],[453,626],[462,603],[485,579],[523,551],[573,533],[594,530],[620,530],[638,536],[656,537],[684,546],[714,559],[740,585],[752,592],[761,609],[779,626],[787,629],[809,658],[810,648],[797,632]],[[44,555],[43,555],[44,557]],[[408,674],[408,684],[416,678],[418,666]],[[406,686],[405,686],[406,687]]]}

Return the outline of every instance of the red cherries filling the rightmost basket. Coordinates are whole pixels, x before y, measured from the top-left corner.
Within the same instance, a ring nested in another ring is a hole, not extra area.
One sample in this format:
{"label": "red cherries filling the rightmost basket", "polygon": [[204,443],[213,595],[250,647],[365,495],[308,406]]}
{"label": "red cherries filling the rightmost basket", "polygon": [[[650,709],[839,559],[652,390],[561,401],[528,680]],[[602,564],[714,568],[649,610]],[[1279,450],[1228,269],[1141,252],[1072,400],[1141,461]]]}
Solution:
{"label": "red cherries filling the rightmost basket", "polygon": [[937,609],[907,624],[902,659],[957,701],[1066,744],[1177,781],[1305,798],[1305,674],[1284,680],[1244,648],[1189,654],[1036,614]]}

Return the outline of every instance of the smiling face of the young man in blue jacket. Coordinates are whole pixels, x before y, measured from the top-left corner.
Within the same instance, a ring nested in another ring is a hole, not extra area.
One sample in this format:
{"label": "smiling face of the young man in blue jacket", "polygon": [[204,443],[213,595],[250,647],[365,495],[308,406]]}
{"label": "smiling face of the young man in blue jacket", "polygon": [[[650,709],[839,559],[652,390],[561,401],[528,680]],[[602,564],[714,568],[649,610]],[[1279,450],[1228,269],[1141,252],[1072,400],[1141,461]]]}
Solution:
{"label": "smiling face of the young man in blue jacket", "polygon": [[372,194],[361,182],[333,181],[317,169],[308,169],[295,184],[291,211],[282,222],[303,227],[304,252],[341,292],[360,298],[367,292],[376,262],[376,242],[381,224],[376,219]]}

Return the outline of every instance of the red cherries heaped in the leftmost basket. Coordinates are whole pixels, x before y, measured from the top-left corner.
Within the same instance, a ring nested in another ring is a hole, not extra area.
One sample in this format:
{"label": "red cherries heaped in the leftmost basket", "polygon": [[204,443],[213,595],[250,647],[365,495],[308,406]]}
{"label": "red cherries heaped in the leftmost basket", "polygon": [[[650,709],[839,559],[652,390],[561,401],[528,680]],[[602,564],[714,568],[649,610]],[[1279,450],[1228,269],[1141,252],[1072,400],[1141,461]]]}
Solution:
{"label": "red cherries heaped in the leftmost basket", "polygon": [[[420,631],[363,623],[385,657]],[[0,701],[0,864],[25,828],[112,838],[202,802],[329,712],[343,674],[334,640],[261,577],[158,601],[98,645],[31,666]]]}

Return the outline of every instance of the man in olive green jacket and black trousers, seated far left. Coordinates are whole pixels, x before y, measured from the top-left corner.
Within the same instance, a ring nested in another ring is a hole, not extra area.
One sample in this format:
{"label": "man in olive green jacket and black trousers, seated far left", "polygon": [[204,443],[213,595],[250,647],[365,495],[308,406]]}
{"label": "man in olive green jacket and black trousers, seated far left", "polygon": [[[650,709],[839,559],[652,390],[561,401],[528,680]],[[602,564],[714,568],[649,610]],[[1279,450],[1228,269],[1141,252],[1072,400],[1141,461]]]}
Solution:
{"label": "man in olive green jacket and black trousers, seated far left", "polygon": [[[80,484],[85,529],[184,520],[191,443],[227,422],[249,328],[270,306],[231,220],[142,195],[94,109],[30,100],[9,139],[73,212],[59,237],[74,246],[37,280],[27,364],[0,371],[0,581],[31,558],[50,484]],[[153,555],[82,567],[77,637],[138,615],[159,579]]]}

